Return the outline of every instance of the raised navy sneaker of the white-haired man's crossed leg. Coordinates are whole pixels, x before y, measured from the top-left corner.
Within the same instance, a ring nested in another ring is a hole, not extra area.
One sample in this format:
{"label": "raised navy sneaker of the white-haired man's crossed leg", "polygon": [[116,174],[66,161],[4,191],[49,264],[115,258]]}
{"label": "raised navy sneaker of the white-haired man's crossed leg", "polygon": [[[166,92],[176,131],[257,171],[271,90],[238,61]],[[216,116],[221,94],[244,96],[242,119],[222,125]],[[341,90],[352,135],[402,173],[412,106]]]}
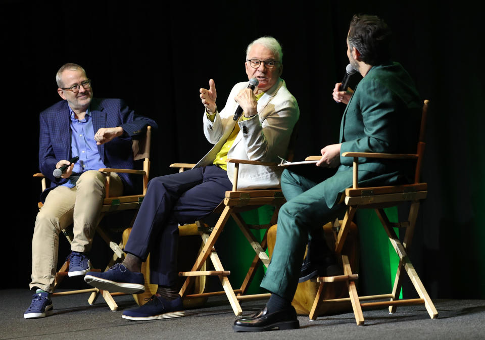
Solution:
{"label": "raised navy sneaker of the white-haired man's crossed leg", "polygon": [[143,274],[129,271],[121,263],[115,264],[103,273],[90,271],[84,276],[84,281],[111,293],[139,294],[145,291]]}

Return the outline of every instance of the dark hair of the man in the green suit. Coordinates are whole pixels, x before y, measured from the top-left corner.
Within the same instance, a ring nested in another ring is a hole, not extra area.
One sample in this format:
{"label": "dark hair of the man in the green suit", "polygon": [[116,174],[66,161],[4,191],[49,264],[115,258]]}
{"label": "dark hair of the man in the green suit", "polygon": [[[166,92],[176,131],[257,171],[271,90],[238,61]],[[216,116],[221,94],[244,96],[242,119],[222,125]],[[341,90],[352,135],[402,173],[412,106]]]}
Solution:
{"label": "dark hair of the man in the green suit", "polygon": [[366,64],[379,65],[391,59],[391,36],[389,26],[373,15],[354,15],[350,22],[350,47],[355,47]]}

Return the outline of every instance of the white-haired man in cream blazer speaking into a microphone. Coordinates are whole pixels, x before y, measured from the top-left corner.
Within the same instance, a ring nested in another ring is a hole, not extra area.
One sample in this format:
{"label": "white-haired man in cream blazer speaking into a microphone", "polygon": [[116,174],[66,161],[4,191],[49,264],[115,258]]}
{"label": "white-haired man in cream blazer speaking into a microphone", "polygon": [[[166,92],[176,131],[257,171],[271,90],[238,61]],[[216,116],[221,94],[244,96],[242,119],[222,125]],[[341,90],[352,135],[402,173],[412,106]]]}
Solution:
{"label": "white-haired man in cream blazer speaking into a microphone", "polygon": [[[236,84],[226,105],[217,110],[214,81],[200,89],[204,112],[204,133],[212,150],[191,170],[161,176],[150,181],[130,238],[127,256],[104,273],[89,272],[85,281],[110,292],[139,293],[144,290],[141,263],[149,253],[150,281],[158,284],[157,294],[145,305],[123,312],[129,320],[153,320],[183,316],[175,283],[178,224],[209,215],[232,189],[234,165],[227,158],[276,162],[285,157],[293,128],[299,118],[298,104],[279,78],[282,52],[278,41],[262,37],[249,44],[245,63],[248,82]],[[243,114],[233,120],[236,108]],[[279,186],[280,173],[274,167],[241,164],[238,189]]]}

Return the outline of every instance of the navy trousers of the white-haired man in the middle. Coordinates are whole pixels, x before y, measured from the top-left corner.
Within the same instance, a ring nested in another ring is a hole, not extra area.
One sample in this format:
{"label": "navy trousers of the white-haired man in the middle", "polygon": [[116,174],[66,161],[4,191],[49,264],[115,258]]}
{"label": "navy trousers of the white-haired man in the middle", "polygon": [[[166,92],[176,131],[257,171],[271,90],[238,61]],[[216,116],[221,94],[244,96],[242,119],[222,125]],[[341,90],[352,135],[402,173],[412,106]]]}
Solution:
{"label": "navy trousers of the white-haired man in the middle", "polygon": [[231,189],[227,172],[215,165],[150,180],[124,250],[143,261],[152,254],[151,283],[176,283],[178,225],[208,216]]}

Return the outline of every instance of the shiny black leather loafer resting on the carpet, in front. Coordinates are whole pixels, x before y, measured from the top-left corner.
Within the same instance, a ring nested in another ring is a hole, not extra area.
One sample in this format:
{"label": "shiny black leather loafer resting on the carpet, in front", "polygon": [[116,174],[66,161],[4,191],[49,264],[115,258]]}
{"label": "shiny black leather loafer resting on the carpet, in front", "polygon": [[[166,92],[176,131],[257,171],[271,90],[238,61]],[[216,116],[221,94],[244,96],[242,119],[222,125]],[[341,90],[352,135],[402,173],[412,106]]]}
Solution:
{"label": "shiny black leather loafer resting on the carpet, in front", "polygon": [[268,309],[264,307],[256,314],[234,321],[234,326],[232,326],[236,332],[261,332],[273,328],[280,330],[300,328],[295,308],[291,306],[281,311],[268,313]]}

